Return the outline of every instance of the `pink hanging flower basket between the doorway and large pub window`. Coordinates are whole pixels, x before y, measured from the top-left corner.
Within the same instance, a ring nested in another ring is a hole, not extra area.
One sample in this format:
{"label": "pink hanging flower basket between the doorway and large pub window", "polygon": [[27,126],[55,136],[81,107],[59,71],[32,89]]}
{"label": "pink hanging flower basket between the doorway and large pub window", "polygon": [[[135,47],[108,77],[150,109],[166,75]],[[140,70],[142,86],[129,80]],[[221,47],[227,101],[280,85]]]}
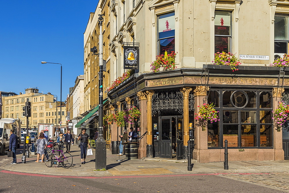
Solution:
{"label": "pink hanging flower basket between the doorway and large pub window", "polygon": [[210,121],[211,123],[213,123],[219,121],[220,120],[218,118],[219,111],[214,109],[214,107],[215,107],[214,103],[211,104],[204,103],[203,106],[201,106],[199,113],[198,114],[195,113],[195,115],[197,115],[195,119],[197,119],[199,122]]}

